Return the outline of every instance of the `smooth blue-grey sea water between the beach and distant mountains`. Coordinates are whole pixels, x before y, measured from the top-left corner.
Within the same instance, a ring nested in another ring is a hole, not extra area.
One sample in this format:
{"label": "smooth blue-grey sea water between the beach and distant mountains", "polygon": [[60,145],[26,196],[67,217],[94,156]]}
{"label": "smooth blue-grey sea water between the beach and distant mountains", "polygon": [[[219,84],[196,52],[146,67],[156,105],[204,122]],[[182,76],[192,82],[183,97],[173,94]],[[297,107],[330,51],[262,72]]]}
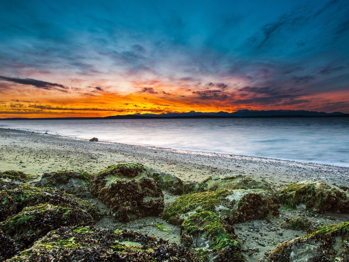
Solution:
{"label": "smooth blue-grey sea water between the beach and distant mountains", "polygon": [[349,166],[349,118],[20,120],[0,121],[0,127]]}

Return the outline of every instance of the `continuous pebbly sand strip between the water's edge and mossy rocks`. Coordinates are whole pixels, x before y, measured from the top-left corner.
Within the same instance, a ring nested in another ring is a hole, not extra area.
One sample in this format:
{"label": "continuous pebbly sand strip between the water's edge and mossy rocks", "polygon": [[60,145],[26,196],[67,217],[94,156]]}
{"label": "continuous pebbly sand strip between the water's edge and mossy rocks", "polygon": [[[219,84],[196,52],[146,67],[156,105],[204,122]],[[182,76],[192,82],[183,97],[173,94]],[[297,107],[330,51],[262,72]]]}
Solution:
{"label": "continuous pebbly sand strip between the water's edge and mossy rocks", "polygon": [[0,128],[0,170],[42,174],[62,169],[97,173],[120,162],[138,162],[184,181],[215,175],[263,177],[274,186],[329,177],[348,181],[349,167],[214,152],[120,144]]}

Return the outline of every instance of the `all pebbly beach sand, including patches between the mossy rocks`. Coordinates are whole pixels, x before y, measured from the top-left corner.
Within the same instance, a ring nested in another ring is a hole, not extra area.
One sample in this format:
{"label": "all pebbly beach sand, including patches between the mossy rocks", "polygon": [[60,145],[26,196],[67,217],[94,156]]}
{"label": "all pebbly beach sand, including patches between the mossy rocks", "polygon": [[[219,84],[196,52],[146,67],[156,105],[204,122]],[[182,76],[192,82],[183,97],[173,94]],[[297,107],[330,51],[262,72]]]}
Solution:
{"label": "all pebbly beach sand, including patches between the mossy rocks", "polygon": [[[119,163],[141,163],[149,168],[173,174],[184,182],[201,182],[210,176],[243,175],[265,179],[273,190],[291,182],[309,178],[331,179],[348,184],[349,168],[321,163],[296,162],[242,155],[218,154],[151,146],[109,142],[92,142],[59,135],[0,129],[0,172],[20,170],[34,174],[39,180],[45,172],[85,170],[92,174]],[[165,209],[178,195],[164,192]],[[101,211],[103,218],[96,227],[119,230],[127,228],[158,239],[180,244],[181,228],[166,222],[161,216],[149,216],[125,223],[116,221],[111,211],[98,199],[87,199]],[[164,210],[165,210],[164,209]],[[258,261],[277,243],[305,235],[305,231],[282,228],[288,219],[306,217],[313,227],[348,221],[347,214],[315,214],[304,208],[279,209],[279,216],[267,220],[235,223],[235,234],[241,243],[246,262]],[[161,227],[158,227],[158,226]],[[162,228],[164,227],[165,230]]]}

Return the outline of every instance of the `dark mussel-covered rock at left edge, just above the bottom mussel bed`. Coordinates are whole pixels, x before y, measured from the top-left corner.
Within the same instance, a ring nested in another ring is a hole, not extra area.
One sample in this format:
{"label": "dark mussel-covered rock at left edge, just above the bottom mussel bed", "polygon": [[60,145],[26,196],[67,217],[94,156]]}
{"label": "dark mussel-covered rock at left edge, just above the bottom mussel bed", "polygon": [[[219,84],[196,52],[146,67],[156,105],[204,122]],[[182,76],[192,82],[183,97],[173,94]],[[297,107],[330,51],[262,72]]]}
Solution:
{"label": "dark mussel-covered rock at left edge, just above the bottom mussel bed", "polygon": [[40,204],[24,208],[0,224],[1,230],[26,248],[61,226],[91,226],[94,220],[81,208]]}

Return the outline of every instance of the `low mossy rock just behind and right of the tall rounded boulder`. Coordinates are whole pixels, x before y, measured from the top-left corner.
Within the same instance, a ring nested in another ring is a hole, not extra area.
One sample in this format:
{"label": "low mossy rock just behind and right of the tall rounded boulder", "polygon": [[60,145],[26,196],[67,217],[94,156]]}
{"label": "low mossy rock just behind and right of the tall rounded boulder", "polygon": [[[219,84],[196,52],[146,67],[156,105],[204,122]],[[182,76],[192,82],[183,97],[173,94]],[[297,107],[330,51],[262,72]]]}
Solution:
{"label": "low mossy rock just behind and right of the tall rounded boulder", "polygon": [[150,167],[146,167],[152,177],[162,190],[169,191],[173,195],[183,194],[183,182],[175,175],[163,173]]}

